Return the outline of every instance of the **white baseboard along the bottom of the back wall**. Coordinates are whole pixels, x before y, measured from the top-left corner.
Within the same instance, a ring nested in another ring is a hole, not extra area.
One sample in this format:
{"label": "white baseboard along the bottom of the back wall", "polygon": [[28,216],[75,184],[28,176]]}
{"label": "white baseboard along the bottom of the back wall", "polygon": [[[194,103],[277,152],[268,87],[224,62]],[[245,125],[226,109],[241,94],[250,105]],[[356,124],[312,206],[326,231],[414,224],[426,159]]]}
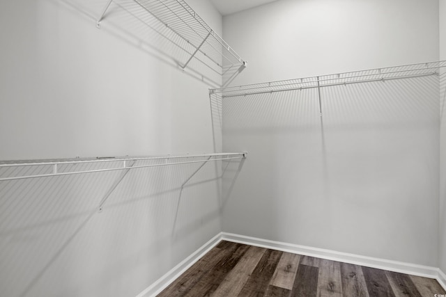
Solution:
{"label": "white baseboard along the bottom of the back wall", "polygon": [[222,233],[222,240],[232,241],[236,243],[245,243],[251,246],[259,246],[262,248],[270,248],[273,250],[282,250],[284,252],[293,252],[299,255],[318,257],[329,259],[332,261],[345,262],[372,268],[379,268],[388,271],[406,273],[410,275],[422,276],[424,278],[438,278],[438,268],[431,266],[422,266],[405,262],[397,262],[387,259],[379,259],[374,257],[365,257],[361,255],[349,254],[346,252],[337,252],[334,250],[325,250],[322,248],[312,248],[309,246],[299,246],[291,243],[283,243],[279,241],[270,241],[255,237],[243,236],[231,233]]}

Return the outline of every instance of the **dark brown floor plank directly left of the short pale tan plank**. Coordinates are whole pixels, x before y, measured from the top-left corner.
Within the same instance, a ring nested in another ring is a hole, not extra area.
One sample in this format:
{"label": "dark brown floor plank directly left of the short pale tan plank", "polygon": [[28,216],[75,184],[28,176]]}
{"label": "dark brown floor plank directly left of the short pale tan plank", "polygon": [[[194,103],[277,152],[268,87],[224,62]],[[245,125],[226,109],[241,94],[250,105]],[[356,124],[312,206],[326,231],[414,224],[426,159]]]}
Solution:
{"label": "dark brown floor plank directly left of the short pale tan plank", "polygon": [[266,250],[238,296],[263,296],[268,289],[268,284],[276,270],[282,253],[278,250]]}

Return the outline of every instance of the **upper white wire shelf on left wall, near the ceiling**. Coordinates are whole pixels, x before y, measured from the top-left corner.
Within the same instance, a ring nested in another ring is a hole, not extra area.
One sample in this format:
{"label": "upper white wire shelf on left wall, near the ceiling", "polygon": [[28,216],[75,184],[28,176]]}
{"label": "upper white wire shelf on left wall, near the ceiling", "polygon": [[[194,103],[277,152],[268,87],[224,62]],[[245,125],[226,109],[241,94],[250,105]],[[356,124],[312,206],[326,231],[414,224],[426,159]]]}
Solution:
{"label": "upper white wire shelf on left wall, near the ceiling", "polygon": [[[98,18],[98,28],[112,2],[123,8],[120,1],[108,0],[102,15]],[[174,33],[176,40],[171,41],[177,45],[181,43],[182,49],[188,54],[187,60],[180,63],[183,69],[196,58],[220,70],[220,74],[224,77],[223,86],[245,69],[246,62],[184,0],[130,0],[130,2],[139,8],[139,13],[132,15],[137,17],[145,13]]]}

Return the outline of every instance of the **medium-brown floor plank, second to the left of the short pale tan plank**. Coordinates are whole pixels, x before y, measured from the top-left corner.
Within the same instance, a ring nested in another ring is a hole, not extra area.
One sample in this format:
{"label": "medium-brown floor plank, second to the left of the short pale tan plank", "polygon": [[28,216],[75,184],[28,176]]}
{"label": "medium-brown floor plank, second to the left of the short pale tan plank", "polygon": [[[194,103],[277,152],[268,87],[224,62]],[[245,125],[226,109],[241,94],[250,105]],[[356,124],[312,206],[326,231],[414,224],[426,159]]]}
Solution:
{"label": "medium-brown floor plank, second to the left of the short pale tan plank", "polygon": [[220,286],[213,292],[212,296],[238,296],[265,252],[266,248],[251,246],[231,272],[226,275]]}

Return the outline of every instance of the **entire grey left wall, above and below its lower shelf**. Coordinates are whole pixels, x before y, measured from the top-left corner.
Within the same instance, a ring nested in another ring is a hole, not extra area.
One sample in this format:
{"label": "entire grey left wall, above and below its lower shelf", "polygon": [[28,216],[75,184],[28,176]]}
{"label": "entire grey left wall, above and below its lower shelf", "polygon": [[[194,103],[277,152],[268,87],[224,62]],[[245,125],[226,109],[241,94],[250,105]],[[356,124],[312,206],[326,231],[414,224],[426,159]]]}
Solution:
{"label": "entire grey left wall, above and below its lower shelf", "polygon": [[[116,1],[96,29],[105,2],[0,3],[1,160],[213,152],[209,83]],[[139,294],[221,230],[215,165],[180,196],[198,166],[131,171],[102,213],[121,172],[1,182],[2,294]]]}

